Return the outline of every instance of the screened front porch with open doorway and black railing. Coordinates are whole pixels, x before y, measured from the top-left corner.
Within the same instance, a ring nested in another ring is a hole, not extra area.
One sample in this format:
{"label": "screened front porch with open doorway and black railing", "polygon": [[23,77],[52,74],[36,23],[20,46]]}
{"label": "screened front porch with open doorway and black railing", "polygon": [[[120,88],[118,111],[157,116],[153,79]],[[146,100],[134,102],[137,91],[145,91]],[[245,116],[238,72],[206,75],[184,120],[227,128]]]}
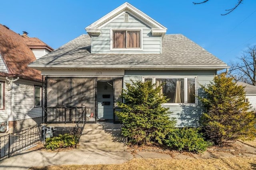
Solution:
{"label": "screened front porch with open doorway and black railing", "polygon": [[44,123],[117,122],[114,111],[122,92],[122,78],[45,77]]}

